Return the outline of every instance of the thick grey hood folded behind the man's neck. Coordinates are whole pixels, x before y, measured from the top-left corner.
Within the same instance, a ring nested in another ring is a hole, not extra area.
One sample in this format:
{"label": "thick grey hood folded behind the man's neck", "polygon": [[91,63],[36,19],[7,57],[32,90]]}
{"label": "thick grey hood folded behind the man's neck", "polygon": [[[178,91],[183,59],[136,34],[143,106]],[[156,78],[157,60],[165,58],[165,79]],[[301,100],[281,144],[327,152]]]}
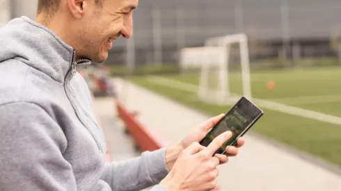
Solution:
{"label": "thick grey hood folded behind the man's neck", "polygon": [[20,60],[60,82],[72,64],[74,69],[77,65],[72,47],[28,17],[13,19],[0,28],[0,64],[8,59]]}

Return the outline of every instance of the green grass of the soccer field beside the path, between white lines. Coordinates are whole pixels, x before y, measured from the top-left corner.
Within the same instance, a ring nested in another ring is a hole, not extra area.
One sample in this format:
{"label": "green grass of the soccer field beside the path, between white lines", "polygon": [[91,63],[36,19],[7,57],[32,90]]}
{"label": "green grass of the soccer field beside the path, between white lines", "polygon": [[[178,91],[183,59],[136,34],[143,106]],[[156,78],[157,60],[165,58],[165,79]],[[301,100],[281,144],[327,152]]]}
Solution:
{"label": "green grass of the soccer field beside the path, between white lines", "polygon": [[[161,77],[193,85],[198,85],[199,81],[198,74]],[[209,115],[225,113],[230,109],[227,106],[204,103],[195,92],[154,83],[148,76],[132,77],[130,80]],[[230,73],[229,81],[231,92],[241,92],[239,73]],[[341,67],[253,72],[251,81],[255,98],[341,117]],[[274,81],[276,88],[267,90],[267,81]],[[274,110],[263,110],[264,117],[251,131],[341,166],[341,126]]]}

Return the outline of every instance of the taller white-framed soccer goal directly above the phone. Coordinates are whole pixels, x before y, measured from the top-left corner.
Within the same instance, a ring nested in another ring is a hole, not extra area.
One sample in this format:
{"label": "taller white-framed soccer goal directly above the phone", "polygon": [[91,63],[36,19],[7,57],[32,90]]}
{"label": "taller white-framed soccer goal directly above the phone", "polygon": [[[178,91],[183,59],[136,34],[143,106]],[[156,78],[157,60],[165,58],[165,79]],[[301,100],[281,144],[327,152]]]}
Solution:
{"label": "taller white-framed soccer goal directly above the phone", "polygon": [[[231,92],[230,90],[229,60],[232,44],[239,45],[238,54],[241,68],[241,92],[239,93]],[[252,99],[247,36],[244,33],[240,33],[209,38],[205,41],[205,47],[211,49],[217,47],[221,50],[207,55],[207,61],[202,65],[198,91],[199,95],[205,94],[205,97],[201,96],[201,98],[204,101],[212,102],[210,99],[214,97],[215,102],[219,104],[233,103],[240,96]]]}

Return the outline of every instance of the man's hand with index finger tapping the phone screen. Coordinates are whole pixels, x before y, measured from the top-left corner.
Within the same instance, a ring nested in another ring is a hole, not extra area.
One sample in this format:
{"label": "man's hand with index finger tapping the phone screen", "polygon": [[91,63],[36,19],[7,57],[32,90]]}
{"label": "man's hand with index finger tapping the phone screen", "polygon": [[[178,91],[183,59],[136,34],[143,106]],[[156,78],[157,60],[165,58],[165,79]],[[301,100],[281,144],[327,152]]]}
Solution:
{"label": "man's hand with index finger tapping the phone screen", "polygon": [[179,158],[168,176],[160,185],[168,191],[213,190],[219,172],[219,158],[212,157],[214,152],[232,136],[230,131],[216,137],[207,147],[193,142],[180,153]]}

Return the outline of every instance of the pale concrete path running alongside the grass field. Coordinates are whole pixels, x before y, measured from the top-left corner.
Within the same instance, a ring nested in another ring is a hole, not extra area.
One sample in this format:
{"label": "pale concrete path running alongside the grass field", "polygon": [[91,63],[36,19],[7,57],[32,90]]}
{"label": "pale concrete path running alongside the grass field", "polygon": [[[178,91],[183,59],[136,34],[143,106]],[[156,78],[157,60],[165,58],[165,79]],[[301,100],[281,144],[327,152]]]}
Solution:
{"label": "pale concrete path running alongside the grass field", "polygon": [[[114,81],[120,99],[138,119],[166,144],[184,135],[209,117],[149,90]],[[233,191],[340,191],[341,176],[334,174],[269,142],[246,135],[239,156],[219,167],[221,190]]]}

